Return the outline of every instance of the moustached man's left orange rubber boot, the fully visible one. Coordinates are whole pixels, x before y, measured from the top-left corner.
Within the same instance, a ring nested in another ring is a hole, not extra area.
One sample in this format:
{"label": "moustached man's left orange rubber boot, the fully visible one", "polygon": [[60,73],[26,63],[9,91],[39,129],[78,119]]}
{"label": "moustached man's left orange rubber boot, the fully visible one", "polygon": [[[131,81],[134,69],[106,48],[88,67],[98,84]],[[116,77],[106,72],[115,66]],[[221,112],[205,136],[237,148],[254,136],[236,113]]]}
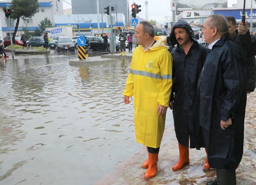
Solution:
{"label": "moustached man's left orange rubber boot, the fully visible one", "polygon": [[189,148],[179,143],[179,161],[172,167],[172,170],[173,171],[180,170],[181,168],[183,168],[183,166],[185,166],[188,163],[189,163]]}

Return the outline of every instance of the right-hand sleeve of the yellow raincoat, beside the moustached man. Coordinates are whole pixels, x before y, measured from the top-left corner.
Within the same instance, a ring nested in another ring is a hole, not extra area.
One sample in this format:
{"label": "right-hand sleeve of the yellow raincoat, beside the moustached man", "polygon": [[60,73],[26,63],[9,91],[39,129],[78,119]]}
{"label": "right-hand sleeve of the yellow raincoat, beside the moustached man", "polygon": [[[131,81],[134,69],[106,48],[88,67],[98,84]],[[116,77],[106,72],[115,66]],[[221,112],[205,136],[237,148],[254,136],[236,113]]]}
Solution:
{"label": "right-hand sleeve of the yellow raincoat, beside the moustached man", "polygon": [[160,56],[159,66],[162,83],[157,102],[161,106],[169,107],[172,89],[172,56],[168,50],[165,50]]}

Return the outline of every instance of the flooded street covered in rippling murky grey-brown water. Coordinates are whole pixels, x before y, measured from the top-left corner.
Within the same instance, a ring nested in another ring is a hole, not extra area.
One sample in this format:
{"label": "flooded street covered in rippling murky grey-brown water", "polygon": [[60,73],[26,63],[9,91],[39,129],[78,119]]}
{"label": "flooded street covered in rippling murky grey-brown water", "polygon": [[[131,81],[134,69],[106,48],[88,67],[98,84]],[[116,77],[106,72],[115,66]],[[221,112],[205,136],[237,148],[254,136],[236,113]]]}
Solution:
{"label": "flooded street covered in rippling murky grey-brown water", "polygon": [[[146,148],[136,143],[133,103],[122,102],[129,60],[69,66],[77,51],[52,50],[15,58],[0,60],[0,185],[201,185],[215,176],[202,170],[205,151],[190,150],[190,164],[171,170],[178,143],[168,110],[159,171],[143,178]],[[255,103],[250,94],[241,185],[256,184]]]}

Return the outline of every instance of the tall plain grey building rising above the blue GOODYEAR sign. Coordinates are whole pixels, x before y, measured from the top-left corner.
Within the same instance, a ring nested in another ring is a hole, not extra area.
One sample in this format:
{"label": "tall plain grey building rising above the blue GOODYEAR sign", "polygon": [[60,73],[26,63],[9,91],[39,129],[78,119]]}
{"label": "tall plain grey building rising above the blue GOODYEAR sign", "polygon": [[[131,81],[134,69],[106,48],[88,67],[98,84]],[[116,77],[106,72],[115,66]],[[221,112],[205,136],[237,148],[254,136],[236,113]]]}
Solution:
{"label": "tall plain grey building rising above the blue GOODYEAR sign", "polygon": [[[97,14],[97,1],[96,0],[72,0],[72,5],[77,8],[77,10],[72,6],[72,14]],[[104,7],[109,6],[115,7],[117,9],[117,13],[121,13],[125,17],[125,24],[129,24],[130,15],[129,15],[129,0],[99,0],[99,13],[101,11],[105,11]],[[78,12],[77,12],[78,11]],[[116,15],[115,12],[112,14]]]}

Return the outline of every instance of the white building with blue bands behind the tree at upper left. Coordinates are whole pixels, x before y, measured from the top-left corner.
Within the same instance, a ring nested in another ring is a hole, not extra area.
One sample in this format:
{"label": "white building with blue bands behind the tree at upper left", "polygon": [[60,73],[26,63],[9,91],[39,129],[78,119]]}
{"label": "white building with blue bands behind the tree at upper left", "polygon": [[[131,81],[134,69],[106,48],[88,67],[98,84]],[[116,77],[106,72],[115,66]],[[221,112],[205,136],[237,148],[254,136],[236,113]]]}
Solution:
{"label": "white building with blue bands behind the tree at upper left", "polygon": [[[27,27],[29,32],[34,32],[36,28],[40,30],[38,24],[40,21],[44,20],[45,17],[50,19],[51,23],[54,25],[54,15],[62,15],[63,14],[63,1],[60,0],[38,0],[39,2],[39,12],[36,13],[31,18],[20,18],[18,31],[16,36],[20,36],[23,30],[23,27]],[[0,7],[2,6],[11,6],[11,1],[0,1]],[[0,19],[1,19],[1,28],[2,35],[1,38],[6,36],[10,36],[9,27],[7,27],[7,19],[5,17],[4,11],[0,11]],[[11,27],[12,33],[14,32],[14,28],[16,25],[16,20],[14,20],[14,27]]]}

